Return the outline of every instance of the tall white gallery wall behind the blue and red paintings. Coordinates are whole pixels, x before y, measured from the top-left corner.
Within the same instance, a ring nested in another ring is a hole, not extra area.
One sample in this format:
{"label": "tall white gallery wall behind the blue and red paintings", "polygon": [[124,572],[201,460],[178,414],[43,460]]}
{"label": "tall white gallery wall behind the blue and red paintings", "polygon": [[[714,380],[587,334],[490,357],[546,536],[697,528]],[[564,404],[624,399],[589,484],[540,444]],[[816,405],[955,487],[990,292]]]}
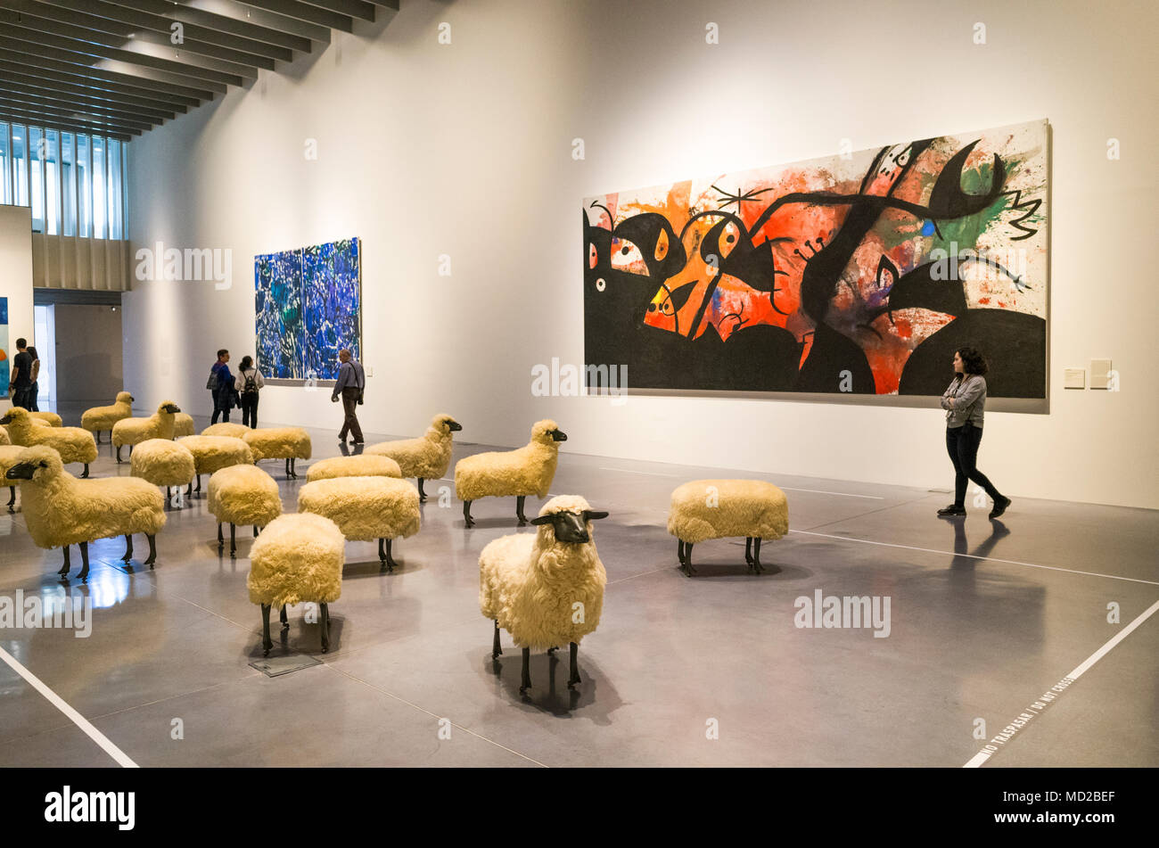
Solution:
{"label": "tall white gallery wall behind the blue and red paintings", "polygon": [[[229,250],[232,279],[134,282],[125,386],[209,414],[214,351],[254,352],[254,255],[359,236],[370,432],[446,411],[517,445],[553,417],[569,452],[947,488],[935,402],[615,405],[533,396],[531,370],[583,361],[585,196],[1047,118],[1049,414],[987,410],[979,465],[1014,497],[1159,507],[1157,29],[1142,1],[403,0],[132,141],[134,249]],[[1101,357],[1118,392],[1063,389]],[[337,430],[328,394],[269,387],[262,423]]]}

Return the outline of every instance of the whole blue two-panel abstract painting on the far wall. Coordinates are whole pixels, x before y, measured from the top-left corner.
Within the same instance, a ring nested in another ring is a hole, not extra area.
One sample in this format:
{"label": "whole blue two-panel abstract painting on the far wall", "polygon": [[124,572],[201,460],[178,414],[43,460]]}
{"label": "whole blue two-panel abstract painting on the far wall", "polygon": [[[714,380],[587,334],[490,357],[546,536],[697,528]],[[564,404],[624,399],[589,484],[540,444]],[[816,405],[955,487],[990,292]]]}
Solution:
{"label": "whole blue two-panel abstract painting on the far wall", "polygon": [[337,377],[338,351],[360,353],[358,239],[254,257],[257,367],[274,379]]}

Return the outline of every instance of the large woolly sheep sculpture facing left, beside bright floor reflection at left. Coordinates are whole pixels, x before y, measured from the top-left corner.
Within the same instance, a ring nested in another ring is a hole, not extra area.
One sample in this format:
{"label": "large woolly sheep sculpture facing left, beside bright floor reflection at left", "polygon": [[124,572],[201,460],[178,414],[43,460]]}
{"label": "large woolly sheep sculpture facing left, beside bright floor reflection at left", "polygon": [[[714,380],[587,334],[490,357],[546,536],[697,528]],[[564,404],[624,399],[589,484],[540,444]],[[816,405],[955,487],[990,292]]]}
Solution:
{"label": "large woolly sheep sculpture facing left, beside bright floor reflection at left", "polygon": [[[89,436],[89,438],[93,438]],[[65,470],[60,454],[48,445],[25,448],[7,480],[21,481],[21,502],[29,535],[39,548],[64,548],[67,576],[68,546],[80,547],[82,568],[76,577],[88,578],[88,543],[123,535],[123,562],[133,556],[133,534],[148,539],[151,569],[156,563],[156,533],[165,526],[165,503],[155,485],[137,477],[78,480]]]}

